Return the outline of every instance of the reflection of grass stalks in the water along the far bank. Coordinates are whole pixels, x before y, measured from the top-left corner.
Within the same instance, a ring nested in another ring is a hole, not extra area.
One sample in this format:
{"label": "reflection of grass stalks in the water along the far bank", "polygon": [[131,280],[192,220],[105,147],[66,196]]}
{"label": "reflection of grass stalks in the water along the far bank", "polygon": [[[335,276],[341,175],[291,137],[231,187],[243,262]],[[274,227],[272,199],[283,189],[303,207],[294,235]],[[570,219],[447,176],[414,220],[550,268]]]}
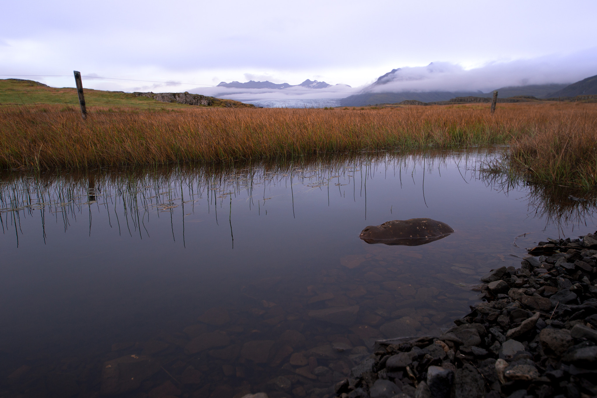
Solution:
{"label": "reflection of grass stalks in the water along the far bank", "polygon": [[[491,153],[493,150],[486,150]],[[110,225],[119,233],[143,237],[144,220],[149,214],[173,215],[193,208],[196,199],[223,207],[224,201],[246,196],[249,206],[263,208],[268,199],[268,184],[307,189],[340,189],[344,183],[367,190],[367,180],[378,170],[392,167],[396,174],[410,178],[413,172],[432,172],[451,156],[462,159],[463,171],[475,156],[443,150],[400,152],[361,152],[336,155],[299,156],[281,161],[202,163],[199,165],[137,166],[90,169],[70,172],[33,172],[5,170],[0,174],[0,221],[4,230],[19,235],[20,217],[39,211],[45,217],[60,218],[64,229],[70,218],[90,214],[91,209],[107,212]],[[259,189],[257,188],[259,187]],[[245,192],[245,193],[243,193]],[[291,189],[292,192],[292,189]],[[216,208],[217,211],[217,208]],[[3,215],[4,214],[4,215]]]}

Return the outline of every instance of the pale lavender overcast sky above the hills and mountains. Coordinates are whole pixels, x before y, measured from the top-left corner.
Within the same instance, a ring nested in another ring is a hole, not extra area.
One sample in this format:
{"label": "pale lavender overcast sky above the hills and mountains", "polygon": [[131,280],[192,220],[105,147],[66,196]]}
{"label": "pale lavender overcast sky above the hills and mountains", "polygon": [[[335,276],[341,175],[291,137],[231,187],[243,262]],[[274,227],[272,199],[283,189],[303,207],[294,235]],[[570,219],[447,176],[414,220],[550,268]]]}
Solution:
{"label": "pale lavender overcast sky above the hills and mountains", "polygon": [[431,62],[444,77],[423,90],[597,75],[594,0],[1,1],[0,74],[67,75],[31,77],[58,87],[72,87],[80,70],[195,84],[84,79],[103,90],[197,91],[250,79],[359,88],[398,67],[424,75],[417,67]]}

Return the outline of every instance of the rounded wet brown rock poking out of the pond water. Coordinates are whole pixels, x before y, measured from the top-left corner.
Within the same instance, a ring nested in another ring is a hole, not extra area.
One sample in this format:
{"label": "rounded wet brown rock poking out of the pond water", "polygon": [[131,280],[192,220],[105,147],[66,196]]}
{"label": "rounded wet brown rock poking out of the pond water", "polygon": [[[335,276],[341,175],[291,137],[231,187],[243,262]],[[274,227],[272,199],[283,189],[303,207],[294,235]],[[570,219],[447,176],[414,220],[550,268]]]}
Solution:
{"label": "rounded wet brown rock poking out of the pond water", "polygon": [[387,221],[379,226],[368,226],[359,237],[367,243],[384,245],[419,246],[442,239],[454,230],[446,223],[431,218]]}

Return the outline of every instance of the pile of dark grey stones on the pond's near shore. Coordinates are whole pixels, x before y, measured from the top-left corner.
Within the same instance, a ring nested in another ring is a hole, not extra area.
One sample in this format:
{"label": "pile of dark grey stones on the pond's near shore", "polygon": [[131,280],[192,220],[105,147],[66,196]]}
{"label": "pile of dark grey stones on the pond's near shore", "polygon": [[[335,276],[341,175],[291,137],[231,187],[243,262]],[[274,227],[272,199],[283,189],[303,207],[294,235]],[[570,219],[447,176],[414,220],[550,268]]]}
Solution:
{"label": "pile of dark grey stones on the pond's near shore", "polygon": [[485,274],[482,301],[439,337],[377,341],[336,396],[597,396],[595,235],[539,242],[519,269]]}

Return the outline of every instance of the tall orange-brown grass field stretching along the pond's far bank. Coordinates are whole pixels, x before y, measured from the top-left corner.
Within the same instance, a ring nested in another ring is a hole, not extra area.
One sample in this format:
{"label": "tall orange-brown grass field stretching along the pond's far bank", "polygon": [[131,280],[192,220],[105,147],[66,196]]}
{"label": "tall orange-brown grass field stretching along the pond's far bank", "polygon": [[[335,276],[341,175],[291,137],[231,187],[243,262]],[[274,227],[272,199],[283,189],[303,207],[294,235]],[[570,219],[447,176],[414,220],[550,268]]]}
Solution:
{"label": "tall orange-brown grass field stretching along the pond's far bank", "polygon": [[4,168],[288,159],[317,153],[510,144],[510,171],[597,184],[596,103],[210,109],[0,107]]}

